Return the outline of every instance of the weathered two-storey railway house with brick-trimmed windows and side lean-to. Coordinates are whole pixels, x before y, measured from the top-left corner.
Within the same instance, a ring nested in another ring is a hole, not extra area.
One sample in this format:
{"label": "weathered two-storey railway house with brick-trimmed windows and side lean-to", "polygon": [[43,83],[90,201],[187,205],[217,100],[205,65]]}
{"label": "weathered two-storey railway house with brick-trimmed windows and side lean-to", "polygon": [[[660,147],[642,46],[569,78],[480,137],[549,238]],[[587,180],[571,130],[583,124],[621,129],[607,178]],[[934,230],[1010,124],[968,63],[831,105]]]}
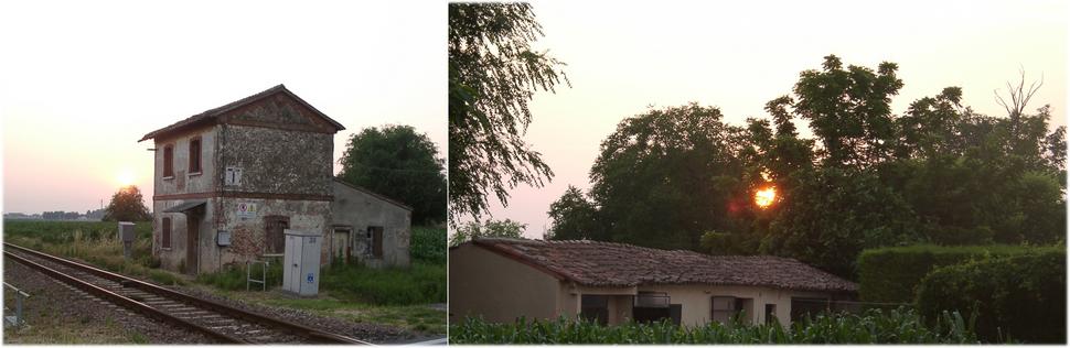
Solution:
{"label": "weathered two-storey railway house with brick-trimmed windows and side lean-to", "polygon": [[285,230],[322,236],[321,263],[408,265],[411,208],[334,178],[344,128],[279,85],[149,132],[152,253],[196,274],[275,260]]}

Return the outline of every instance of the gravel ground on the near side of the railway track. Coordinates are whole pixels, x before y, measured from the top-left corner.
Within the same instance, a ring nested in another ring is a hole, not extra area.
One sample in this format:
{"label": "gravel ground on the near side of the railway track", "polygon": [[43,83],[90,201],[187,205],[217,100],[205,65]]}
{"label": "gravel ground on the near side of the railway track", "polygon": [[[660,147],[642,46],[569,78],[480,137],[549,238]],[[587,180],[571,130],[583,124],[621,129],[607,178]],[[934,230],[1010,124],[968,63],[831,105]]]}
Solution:
{"label": "gravel ground on the near side of the railway track", "polygon": [[[170,325],[104,303],[14,260],[4,260],[3,280],[31,296],[24,305],[31,325],[28,330],[62,329],[50,326],[72,323],[74,325],[93,326],[104,333],[103,337],[85,336],[87,344],[131,344],[135,342],[133,337],[143,338],[145,342],[148,344],[216,344],[215,340],[204,335],[173,328]],[[58,323],[56,323],[57,320]],[[19,333],[12,334],[15,335],[4,335],[6,342],[13,342],[9,340],[10,336],[15,336],[18,340]],[[32,333],[25,334],[28,334],[28,337],[34,336]],[[96,341],[97,339],[119,341]],[[19,342],[35,344],[34,341]]]}

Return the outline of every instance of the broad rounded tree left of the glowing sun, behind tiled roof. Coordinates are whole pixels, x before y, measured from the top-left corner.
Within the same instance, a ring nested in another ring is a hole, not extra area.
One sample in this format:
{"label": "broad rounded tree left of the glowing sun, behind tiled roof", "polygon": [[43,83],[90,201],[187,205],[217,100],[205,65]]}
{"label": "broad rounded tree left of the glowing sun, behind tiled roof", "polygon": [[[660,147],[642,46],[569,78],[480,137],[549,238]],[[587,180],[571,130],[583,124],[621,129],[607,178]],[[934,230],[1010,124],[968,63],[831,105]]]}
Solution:
{"label": "broad rounded tree left of the glowing sun, behind tiled roof", "polygon": [[[731,229],[746,187],[746,137],[720,110],[689,104],[621,121],[591,167],[590,196],[607,236],[654,248],[697,249],[704,231]],[[555,221],[555,224],[557,224]]]}

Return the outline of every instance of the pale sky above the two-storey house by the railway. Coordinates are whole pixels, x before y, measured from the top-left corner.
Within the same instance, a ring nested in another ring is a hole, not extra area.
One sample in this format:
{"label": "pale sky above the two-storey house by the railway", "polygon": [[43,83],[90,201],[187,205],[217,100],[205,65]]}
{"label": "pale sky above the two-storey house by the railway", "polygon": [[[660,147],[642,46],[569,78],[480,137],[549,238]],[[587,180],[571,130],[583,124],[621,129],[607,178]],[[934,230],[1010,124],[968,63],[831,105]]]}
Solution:
{"label": "pale sky above the two-storey house by the railway", "polygon": [[[152,196],[152,130],[285,84],[345,126],[408,124],[446,155],[446,4],[3,1],[4,213]],[[335,173],[339,165],[335,163]],[[151,205],[150,205],[151,206]]]}

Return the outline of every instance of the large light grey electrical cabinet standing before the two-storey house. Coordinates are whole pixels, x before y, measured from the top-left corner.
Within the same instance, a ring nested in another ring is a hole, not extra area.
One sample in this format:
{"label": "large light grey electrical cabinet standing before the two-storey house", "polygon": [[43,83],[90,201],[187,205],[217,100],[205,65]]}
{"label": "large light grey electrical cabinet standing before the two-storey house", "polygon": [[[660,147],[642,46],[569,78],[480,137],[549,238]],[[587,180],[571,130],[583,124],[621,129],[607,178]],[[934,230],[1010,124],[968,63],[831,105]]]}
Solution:
{"label": "large light grey electrical cabinet standing before the two-storey house", "polygon": [[315,296],[320,291],[320,252],[323,237],[317,232],[286,229],[282,255],[282,291]]}

